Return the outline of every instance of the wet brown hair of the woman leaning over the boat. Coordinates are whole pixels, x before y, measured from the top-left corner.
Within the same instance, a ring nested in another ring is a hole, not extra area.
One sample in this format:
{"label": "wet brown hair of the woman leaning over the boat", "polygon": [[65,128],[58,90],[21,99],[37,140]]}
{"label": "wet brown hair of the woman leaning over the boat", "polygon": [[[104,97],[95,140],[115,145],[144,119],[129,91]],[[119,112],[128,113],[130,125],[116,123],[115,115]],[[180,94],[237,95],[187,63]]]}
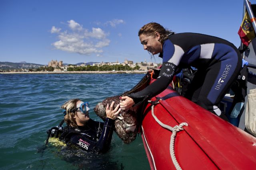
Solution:
{"label": "wet brown hair of the woman leaning over the boat", "polygon": [[145,34],[147,36],[155,37],[155,33],[158,32],[160,34],[160,43],[163,44],[166,39],[168,39],[168,35],[172,34],[173,32],[165,29],[162,25],[156,22],[150,22],[140,28],[138,32],[138,36],[141,34]]}

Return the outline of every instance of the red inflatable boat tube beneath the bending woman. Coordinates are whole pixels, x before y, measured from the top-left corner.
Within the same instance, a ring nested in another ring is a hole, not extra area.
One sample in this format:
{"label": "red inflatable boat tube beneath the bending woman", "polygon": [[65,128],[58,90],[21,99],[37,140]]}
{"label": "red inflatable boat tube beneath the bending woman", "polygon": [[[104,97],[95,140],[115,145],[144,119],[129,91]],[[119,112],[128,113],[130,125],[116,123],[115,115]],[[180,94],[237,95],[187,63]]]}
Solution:
{"label": "red inflatable boat tube beneath the bending woman", "polygon": [[[171,127],[188,123],[174,143],[176,160],[183,170],[256,169],[255,137],[180,96],[171,86],[156,98],[162,100],[154,106],[154,114],[162,123]],[[170,155],[172,131],[152,117],[150,103],[143,116],[141,134],[151,169],[176,169]]]}

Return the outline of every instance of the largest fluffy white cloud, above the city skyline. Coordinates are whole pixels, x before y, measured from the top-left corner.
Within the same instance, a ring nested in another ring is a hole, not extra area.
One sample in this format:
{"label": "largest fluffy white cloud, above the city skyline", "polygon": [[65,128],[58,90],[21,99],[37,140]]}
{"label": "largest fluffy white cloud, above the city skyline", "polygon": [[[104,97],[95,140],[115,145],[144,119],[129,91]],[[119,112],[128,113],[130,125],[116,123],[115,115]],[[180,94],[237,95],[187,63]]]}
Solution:
{"label": "largest fluffy white cloud, above the city skyline", "polygon": [[62,51],[70,53],[79,53],[83,55],[90,55],[92,53],[102,53],[102,47],[109,45],[110,40],[106,38],[106,34],[100,28],[92,28],[92,31],[84,29],[79,23],[74,20],[68,21],[70,31],[60,31],[54,26],[51,32],[58,34],[58,41],[52,43],[52,45]]}

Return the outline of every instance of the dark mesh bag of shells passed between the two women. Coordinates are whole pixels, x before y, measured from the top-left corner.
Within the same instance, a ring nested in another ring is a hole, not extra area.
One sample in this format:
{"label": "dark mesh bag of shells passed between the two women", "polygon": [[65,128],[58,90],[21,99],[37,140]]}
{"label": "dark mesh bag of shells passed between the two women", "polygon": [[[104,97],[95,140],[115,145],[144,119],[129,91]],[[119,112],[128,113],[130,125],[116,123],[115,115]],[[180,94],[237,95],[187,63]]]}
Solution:
{"label": "dark mesh bag of shells passed between the two women", "polygon": [[[150,83],[150,74],[147,73],[142,80],[134,88],[131,90],[124,92],[120,96],[127,96],[129,94],[139,92],[146,88]],[[114,107],[116,107],[120,103],[120,96],[108,97],[102,102],[98,103],[94,108],[96,115],[98,115],[103,121],[106,119],[106,107],[107,104],[111,104],[112,101],[115,102]],[[115,120],[115,129],[118,137],[124,141],[124,143],[131,143],[136,139],[138,128],[141,124],[140,122],[140,113],[142,113],[142,109],[145,102],[142,102],[130,109],[121,110],[118,118]]]}

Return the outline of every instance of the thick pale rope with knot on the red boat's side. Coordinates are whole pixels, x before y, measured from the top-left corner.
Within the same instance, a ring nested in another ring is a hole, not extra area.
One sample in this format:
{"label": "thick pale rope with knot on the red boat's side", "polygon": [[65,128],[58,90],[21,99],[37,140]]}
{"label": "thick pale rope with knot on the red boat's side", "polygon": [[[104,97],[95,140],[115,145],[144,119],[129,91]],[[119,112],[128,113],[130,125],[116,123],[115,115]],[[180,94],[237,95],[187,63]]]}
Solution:
{"label": "thick pale rope with knot on the red boat's side", "polygon": [[152,116],[154,117],[154,119],[156,120],[156,122],[157,122],[160,126],[164,127],[165,129],[168,129],[168,130],[172,131],[172,135],[171,135],[171,139],[170,139],[170,155],[171,155],[172,162],[173,162],[175,168],[176,168],[177,170],[182,170],[182,168],[180,167],[180,165],[179,165],[179,163],[178,163],[178,161],[177,161],[177,159],[176,159],[176,156],[175,156],[175,152],[174,152],[174,142],[175,142],[176,133],[177,133],[178,131],[184,130],[184,129],[183,129],[183,126],[188,126],[188,123],[183,122],[183,123],[180,123],[180,125],[175,125],[174,127],[171,127],[171,126],[169,126],[169,125],[166,125],[166,124],[162,123],[162,122],[156,117],[156,115],[154,114],[154,106],[155,106],[156,104],[160,103],[159,100],[162,100],[162,99],[161,99],[161,98],[156,98],[155,101],[148,100],[148,102],[151,103],[151,105],[152,105],[152,106],[151,106],[151,113],[152,113]]}

